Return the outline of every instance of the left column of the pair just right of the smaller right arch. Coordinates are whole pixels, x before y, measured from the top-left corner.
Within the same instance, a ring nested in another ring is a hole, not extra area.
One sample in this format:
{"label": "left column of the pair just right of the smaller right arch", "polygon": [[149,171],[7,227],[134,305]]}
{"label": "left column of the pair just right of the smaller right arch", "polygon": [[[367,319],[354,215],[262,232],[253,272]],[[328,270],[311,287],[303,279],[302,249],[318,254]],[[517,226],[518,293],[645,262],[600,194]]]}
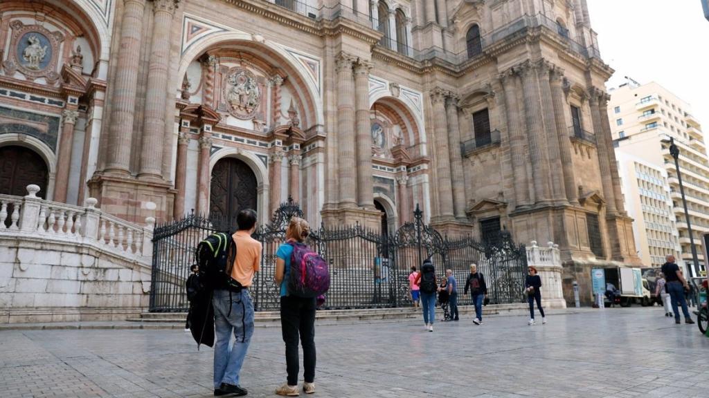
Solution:
{"label": "left column of the pair just right of the smaller right arch", "polygon": [[431,92],[433,105],[433,131],[435,135],[436,186],[438,187],[438,217],[452,219],[453,189],[451,185],[450,152],[445,98],[448,91],[436,88]]}

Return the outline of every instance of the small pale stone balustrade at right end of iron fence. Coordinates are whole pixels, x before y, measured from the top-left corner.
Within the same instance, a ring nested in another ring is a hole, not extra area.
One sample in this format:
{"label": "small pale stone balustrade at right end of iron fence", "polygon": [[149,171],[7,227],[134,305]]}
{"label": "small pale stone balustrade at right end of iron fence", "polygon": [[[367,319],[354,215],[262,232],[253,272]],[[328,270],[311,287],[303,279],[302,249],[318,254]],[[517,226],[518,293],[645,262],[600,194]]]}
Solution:
{"label": "small pale stone balustrade at right end of iron fence", "polygon": [[537,241],[532,241],[530,246],[527,246],[527,265],[535,266],[542,278],[543,305],[549,308],[566,308],[559,245],[550,241],[547,246],[537,246]]}

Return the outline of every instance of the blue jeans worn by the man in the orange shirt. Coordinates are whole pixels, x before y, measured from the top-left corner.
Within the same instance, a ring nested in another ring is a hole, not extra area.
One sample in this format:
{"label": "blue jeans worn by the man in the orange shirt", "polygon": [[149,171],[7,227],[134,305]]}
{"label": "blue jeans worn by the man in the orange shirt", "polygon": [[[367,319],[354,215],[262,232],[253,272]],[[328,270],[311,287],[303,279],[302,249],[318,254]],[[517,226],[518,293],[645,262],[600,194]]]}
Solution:
{"label": "blue jeans worn by the man in the orange shirt", "polygon": [[[214,290],[214,388],[221,383],[239,385],[239,373],[254,334],[254,305],[248,290],[231,293]],[[229,310],[231,309],[231,313]],[[235,341],[229,346],[231,334]]]}

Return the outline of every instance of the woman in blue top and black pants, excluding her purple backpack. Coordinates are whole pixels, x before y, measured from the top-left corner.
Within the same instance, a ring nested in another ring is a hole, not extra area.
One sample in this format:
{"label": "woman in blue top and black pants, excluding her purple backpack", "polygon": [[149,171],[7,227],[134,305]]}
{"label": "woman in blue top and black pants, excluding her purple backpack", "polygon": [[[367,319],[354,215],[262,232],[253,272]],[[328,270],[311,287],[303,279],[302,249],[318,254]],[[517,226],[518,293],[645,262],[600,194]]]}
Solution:
{"label": "woman in blue top and black pants, excluding her purple backpack", "polygon": [[294,244],[302,243],[310,234],[310,226],[300,217],[291,218],[286,229],[286,243],[276,252],[276,284],[281,287],[281,334],[286,343],[286,384],[276,390],[276,394],[289,397],[298,396],[298,336],[303,345],[303,392],[315,392],[315,310],[316,297],[298,297],[288,291],[288,279]]}

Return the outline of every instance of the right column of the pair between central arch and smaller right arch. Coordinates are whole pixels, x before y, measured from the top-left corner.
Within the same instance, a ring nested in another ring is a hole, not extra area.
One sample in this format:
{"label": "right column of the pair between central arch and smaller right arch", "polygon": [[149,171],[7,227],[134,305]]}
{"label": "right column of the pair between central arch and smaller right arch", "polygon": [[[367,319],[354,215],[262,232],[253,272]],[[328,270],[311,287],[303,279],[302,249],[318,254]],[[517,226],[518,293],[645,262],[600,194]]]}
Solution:
{"label": "right column of the pair between central arch and smaller right arch", "polygon": [[372,63],[362,60],[354,67],[354,103],[357,116],[357,205],[374,208],[372,123],[369,120],[370,69]]}

